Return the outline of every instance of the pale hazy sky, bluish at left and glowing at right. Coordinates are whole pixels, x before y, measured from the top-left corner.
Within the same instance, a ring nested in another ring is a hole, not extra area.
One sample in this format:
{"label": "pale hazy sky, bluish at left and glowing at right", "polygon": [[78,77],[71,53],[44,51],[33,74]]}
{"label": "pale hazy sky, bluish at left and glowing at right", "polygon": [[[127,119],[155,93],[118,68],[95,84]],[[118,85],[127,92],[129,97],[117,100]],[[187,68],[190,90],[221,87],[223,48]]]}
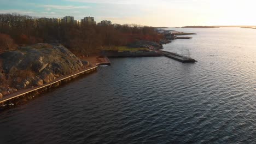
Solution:
{"label": "pale hazy sky, bluish at left and glowing at right", "polygon": [[147,26],[256,25],[253,0],[0,0],[0,13]]}

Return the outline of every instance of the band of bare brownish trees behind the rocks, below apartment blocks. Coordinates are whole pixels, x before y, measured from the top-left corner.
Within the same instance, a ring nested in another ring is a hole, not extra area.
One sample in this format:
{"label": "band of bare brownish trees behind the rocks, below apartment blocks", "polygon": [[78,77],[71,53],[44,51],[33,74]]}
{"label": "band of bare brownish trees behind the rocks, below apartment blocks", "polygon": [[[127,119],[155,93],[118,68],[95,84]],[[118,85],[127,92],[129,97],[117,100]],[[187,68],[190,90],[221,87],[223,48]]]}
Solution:
{"label": "band of bare brownish trees behind the rocks, below apartment blocks", "polygon": [[0,52],[36,43],[61,43],[74,53],[92,53],[137,40],[159,42],[155,28],[54,22],[19,14],[0,14]]}

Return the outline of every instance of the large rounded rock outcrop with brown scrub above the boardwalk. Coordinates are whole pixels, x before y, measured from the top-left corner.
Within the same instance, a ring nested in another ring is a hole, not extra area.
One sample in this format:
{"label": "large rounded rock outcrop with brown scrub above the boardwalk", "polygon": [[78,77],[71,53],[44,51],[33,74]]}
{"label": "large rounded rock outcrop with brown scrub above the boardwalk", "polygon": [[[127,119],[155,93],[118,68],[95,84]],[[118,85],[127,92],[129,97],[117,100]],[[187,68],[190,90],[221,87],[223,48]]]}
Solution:
{"label": "large rounded rock outcrop with brown scrub above the boardwalk", "polygon": [[[9,91],[51,82],[57,77],[89,67],[60,44],[36,44],[0,55],[0,91]],[[10,90],[11,89],[11,90]],[[1,92],[0,92],[1,93]],[[1,94],[0,94],[1,98]]]}

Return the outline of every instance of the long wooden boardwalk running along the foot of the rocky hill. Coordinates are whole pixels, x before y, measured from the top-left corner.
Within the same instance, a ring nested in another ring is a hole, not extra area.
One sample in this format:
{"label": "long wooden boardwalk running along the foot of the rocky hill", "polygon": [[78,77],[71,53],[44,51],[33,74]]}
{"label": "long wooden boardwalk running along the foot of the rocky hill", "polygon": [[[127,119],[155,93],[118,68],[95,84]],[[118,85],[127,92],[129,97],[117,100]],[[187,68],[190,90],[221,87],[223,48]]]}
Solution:
{"label": "long wooden boardwalk running along the foot of the rocky hill", "polygon": [[[37,86],[33,88],[21,89],[17,92],[5,95],[2,99],[0,99],[0,109],[8,109],[9,107],[19,104],[20,101],[27,101],[34,98],[35,95],[49,91],[49,89],[54,87],[59,87],[61,83],[71,81],[80,75],[85,75],[92,73],[97,70],[98,65],[110,65],[110,61],[107,57],[103,57],[102,62],[92,64],[91,67],[85,68],[83,70],[78,71],[74,74],[69,74],[66,76],[59,77],[50,83],[45,83],[42,86]],[[15,104],[14,104],[15,103]]]}

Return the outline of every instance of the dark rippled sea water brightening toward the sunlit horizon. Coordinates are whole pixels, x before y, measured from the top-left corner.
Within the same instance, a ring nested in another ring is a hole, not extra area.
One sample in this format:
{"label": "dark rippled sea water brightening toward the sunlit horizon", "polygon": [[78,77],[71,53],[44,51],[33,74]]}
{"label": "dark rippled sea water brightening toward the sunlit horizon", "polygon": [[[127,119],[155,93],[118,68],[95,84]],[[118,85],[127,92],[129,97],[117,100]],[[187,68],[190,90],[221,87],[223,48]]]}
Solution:
{"label": "dark rippled sea water brightening toward the sunlit horizon", "polygon": [[0,113],[0,143],[255,143],[256,30],[195,32]]}

